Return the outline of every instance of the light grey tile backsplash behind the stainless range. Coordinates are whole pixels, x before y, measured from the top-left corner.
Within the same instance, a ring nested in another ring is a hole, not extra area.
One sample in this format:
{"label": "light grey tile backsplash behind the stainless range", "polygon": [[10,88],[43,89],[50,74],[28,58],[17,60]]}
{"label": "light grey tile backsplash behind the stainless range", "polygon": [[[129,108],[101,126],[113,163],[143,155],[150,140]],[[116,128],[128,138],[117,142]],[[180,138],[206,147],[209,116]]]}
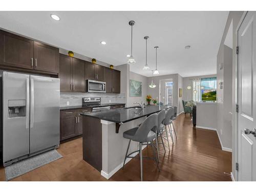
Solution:
{"label": "light grey tile backsplash behind the stainless range", "polygon": [[100,97],[101,103],[126,103],[125,93],[66,93],[60,92],[60,106],[82,105],[82,97]]}

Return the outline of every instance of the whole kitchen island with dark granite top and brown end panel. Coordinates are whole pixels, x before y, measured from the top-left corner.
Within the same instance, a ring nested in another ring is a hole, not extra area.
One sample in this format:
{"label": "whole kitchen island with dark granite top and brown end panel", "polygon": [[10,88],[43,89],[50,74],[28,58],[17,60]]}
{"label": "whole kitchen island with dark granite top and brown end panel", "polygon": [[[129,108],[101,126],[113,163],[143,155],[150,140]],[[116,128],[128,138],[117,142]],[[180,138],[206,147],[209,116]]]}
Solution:
{"label": "whole kitchen island with dark granite top and brown end panel", "polygon": [[[80,113],[83,118],[83,160],[109,179],[123,165],[129,140],[123,132],[141,124],[145,118],[171,106],[147,105],[120,108],[95,113]],[[145,146],[144,146],[145,147]],[[129,152],[138,150],[139,144],[131,141]],[[137,155],[137,154],[135,154]],[[131,159],[127,159],[126,163]]]}

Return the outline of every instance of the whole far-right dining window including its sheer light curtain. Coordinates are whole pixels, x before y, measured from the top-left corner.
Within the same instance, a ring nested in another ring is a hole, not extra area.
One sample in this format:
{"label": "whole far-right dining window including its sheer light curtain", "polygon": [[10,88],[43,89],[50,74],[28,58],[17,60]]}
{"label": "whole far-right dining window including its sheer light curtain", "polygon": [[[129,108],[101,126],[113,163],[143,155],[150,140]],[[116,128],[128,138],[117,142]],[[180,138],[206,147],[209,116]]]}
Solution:
{"label": "whole far-right dining window including its sheer light curtain", "polygon": [[217,78],[207,77],[193,80],[194,101],[216,101],[217,99]]}

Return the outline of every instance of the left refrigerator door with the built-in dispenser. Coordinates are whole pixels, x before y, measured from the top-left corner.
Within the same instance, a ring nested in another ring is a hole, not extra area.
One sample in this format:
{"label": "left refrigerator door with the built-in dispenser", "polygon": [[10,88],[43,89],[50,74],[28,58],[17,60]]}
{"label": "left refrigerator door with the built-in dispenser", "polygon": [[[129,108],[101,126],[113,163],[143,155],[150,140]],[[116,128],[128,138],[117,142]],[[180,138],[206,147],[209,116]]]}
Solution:
{"label": "left refrigerator door with the built-in dispenser", "polygon": [[29,75],[3,72],[3,160],[29,154]]}

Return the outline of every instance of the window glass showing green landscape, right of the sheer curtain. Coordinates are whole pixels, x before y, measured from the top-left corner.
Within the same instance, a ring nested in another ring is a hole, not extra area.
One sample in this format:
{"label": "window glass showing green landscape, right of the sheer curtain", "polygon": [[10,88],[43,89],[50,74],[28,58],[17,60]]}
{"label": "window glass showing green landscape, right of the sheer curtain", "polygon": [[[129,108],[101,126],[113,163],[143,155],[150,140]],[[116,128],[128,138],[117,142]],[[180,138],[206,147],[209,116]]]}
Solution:
{"label": "window glass showing green landscape, right of the sheer curtain", "polygon": [[217,78],[201,78],[202,101],[216,101],[217,99]]}

